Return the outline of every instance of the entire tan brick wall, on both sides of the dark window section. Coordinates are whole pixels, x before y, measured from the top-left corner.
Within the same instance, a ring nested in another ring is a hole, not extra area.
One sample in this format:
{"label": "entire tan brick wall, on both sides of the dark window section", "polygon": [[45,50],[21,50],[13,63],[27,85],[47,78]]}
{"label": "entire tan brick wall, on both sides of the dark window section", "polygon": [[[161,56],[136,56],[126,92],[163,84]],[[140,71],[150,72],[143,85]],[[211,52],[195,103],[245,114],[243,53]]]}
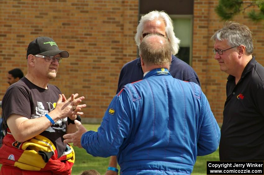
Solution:
{"label": "entire tan brick wall, on both sides of the dark window section", "polygon": [[[192,65],[221,123],[227,74],[213,59],[210,41],[224,23],[214,11],[217,3],[218,0],[194,0]],[[84,120],[100,122],[116,94],[122,66],[137,57],[134,34],[138,18],[138,0],[0,0],[0,99],[8,88],[9,70],[21,68],[26,74],[29,42],[48,36],[70,53],[50,83],[66,97],[72,93],[84,96]],[[264,64],[260,55],[264,49],[264,24],[254,23],[242,13],[233,20],[252,30],[253,55]]]}

